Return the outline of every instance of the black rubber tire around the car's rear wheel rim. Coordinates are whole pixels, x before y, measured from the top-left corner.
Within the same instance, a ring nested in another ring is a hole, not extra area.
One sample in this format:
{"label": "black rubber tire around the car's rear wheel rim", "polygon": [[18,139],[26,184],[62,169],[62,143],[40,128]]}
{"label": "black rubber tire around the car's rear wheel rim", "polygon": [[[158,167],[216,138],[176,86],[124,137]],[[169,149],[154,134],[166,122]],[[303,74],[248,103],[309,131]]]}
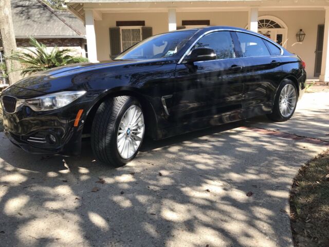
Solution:
{"label": "black rubber tire around the car's rear wheel rim", "polygon": [[[283,90],[283,87],[286,86],[287,84],[291,84],[293,85],[294,89],[295,89],[295,92],[296,92],[296,103],[295,103],[295,108],[293,110],[293,112],[289,115],[289,116],[283,116],[280,112],[280,108],[279,108],[279,104],[280,104],[280,94]],[[283,122],[283,121],[286,121],[288,120],[290,117],[292,117],[295,113],[295,110],[296,110],[296,106],[297,106],[297,101],[298,101],[298,93],[297,93],[297,88],[296,88],[296,85],[293,81],[289,80],[289,79],[285,79],[282,81],[282,83],[280,84],[279,86],[279,89],[278,89],[278,92],[277,92],[277,95],[276,95],[276,98],[275,98],[275,102],[273,104],[273,110],[272,110],[272,113],[270,114],[267,114],[266,116],[270,119],[270,120],[273,120],[273,121],[278,121],[278,122]]]}

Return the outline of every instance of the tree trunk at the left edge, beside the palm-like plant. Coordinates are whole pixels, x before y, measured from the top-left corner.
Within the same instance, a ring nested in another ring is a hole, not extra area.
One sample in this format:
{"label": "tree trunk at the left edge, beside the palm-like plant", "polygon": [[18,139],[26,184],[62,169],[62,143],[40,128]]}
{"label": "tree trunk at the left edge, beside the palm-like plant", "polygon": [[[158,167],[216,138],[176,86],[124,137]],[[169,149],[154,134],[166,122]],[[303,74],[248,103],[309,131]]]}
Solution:
{"label": "tree trunk at the left edge, beside the palm-like plant", "polygon": [[[0,0],[0,34],[5,56],[10,56],[16,50],[14,27],[12,24],[10,0]],[[21,64],[18,61],[6,59],[9,84],[13,84],[22,78],[20,74]]]}

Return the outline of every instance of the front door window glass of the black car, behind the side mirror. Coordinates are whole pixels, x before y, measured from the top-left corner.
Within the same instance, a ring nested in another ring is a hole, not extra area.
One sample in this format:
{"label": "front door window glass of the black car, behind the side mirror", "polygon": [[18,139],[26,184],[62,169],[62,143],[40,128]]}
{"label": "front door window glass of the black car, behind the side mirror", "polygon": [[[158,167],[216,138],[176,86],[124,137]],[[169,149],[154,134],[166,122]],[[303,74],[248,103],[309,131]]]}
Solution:
{"label": "front door window glass of the black car, behind the side mirror", "polygon": [[216,59],[235,58],[234,45],[230,32],[220,31],[206,34],[206,36],[199,39],[194,45],[197,47],[207,47],[215,51]]}

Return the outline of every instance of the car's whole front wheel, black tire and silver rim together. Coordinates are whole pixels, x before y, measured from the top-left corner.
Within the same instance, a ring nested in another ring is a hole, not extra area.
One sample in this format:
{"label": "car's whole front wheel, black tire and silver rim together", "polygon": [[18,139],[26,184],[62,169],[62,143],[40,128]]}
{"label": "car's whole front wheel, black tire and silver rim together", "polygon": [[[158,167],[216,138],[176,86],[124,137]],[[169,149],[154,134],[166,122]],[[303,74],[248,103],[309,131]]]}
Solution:
{"label": "car's whole front wheel, black tire and silver rim together", "polygon": [[135,98],[109,98],[100,104],[93,121],[93,152],[104,163],[123,166],[137,155],[144,132],[143,111]]}

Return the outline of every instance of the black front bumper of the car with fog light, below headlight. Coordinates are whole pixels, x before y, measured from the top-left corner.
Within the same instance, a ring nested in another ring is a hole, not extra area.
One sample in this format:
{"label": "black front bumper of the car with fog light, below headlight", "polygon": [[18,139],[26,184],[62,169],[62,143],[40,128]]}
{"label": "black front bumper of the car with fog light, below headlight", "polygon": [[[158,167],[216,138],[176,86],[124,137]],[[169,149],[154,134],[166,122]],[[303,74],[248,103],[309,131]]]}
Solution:
{"label": "black front bumper of the car with fog light, below headlight", "polygon": [[[77,156],[81,152],[83,122],[88,103],[78,102],[66,109],[33,112],[29,107],[9,114],[4,112],[5,134],[16,146],[35,154]],[[78,111],[83,114],[74,126]]]}

